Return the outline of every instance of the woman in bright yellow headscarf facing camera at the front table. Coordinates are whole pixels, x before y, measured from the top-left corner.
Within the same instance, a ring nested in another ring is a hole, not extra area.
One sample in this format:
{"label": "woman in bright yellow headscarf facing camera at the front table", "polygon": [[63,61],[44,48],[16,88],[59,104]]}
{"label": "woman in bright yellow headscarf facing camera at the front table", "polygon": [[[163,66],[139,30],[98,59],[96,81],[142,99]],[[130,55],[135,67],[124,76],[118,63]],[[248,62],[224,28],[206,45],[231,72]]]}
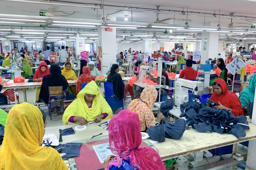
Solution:
{"label": "woman in bright yellow headscarf facing camera at the front table", "polygon": [[89,121],[100,122],[101,119],[110,119],[112,110],[100,93],[94,81],[88,83],[65,110],[62,122],[87,124]]}

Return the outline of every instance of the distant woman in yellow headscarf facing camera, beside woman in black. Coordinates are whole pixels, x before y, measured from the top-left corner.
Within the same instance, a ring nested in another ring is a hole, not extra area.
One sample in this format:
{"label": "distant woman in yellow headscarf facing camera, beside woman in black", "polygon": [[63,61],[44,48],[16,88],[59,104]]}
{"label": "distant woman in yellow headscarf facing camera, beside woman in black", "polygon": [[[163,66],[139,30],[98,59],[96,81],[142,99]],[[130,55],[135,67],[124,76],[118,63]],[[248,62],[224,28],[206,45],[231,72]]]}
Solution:
{"label": "distant woman in yellow headscarf facing camera, beside woman in black", "polygon": [[[61,70],[61,74],[67,79],[67,80],[76,80],[76,74],[72,70],[71,63],[66,62],[65,67],[63,70]],[[68,93],[73,93],[73,96],[76,97],[76,86],[72,85],[69,86]]]}

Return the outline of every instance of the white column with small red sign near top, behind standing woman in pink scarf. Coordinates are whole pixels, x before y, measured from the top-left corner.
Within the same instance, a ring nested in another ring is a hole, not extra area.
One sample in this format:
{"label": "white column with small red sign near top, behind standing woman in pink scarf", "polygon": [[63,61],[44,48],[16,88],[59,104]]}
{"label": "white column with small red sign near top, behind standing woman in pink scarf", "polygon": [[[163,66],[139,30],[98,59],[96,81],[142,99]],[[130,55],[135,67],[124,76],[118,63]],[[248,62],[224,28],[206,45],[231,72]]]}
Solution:
{"label": "white column with small red sign near top, behind standing woman in pink scarf", "polygon": [[[116,17],[110,17],[110,20],[116,20]],[[116,28],[98,28],[99,46],[102,46],[101,71],[103,74],[108,72],[110,64],[116,62],[117,43]]]}

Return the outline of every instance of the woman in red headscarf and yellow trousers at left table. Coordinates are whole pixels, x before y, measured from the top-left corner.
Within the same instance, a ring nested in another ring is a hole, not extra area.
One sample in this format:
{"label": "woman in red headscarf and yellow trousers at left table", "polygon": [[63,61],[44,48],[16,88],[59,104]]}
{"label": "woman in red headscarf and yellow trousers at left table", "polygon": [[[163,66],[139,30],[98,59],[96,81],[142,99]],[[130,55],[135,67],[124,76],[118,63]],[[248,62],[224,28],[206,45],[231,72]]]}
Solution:
{"label": "woman in red headscarf and yellow trousers at left table", "polygon": [[[48,69],[48,65],[45,62],[42,62],[38,69],[35,72],[33,82],[42,82],[44,76],[50,74],[50,71]],[[36,88],[36,102],[39,101],[39,93],[40,93],[41,87]]]}

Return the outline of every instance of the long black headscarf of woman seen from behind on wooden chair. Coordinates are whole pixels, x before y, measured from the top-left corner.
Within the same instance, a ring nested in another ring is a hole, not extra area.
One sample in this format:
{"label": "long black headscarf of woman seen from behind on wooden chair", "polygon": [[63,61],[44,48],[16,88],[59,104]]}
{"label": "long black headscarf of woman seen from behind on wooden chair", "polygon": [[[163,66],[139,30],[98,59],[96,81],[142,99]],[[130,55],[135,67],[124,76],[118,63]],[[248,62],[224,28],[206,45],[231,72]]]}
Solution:
{"label": "long black headscarf of woman seen from behind on wooden chair", "polygon": [[51,74],[44,76],[39,94],[39,98],[42,98],[46,104],[49,102],[48,87],[62,86],[63,91],[68,88],[67,79],[61,75],[60,66],[57,64],[51,65],[50,73]]}

